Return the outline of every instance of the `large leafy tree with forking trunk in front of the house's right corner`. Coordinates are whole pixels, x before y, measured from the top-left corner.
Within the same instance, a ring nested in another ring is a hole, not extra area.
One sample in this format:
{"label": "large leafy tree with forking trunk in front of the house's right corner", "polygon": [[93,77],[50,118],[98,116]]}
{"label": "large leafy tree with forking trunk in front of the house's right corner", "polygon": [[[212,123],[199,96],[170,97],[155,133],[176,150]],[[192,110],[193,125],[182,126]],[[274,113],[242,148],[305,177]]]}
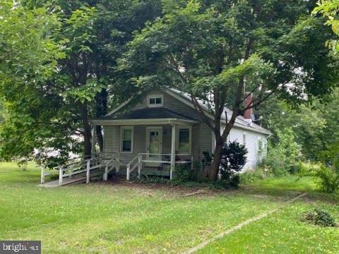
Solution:
{"label": "large leafy tree with forking trunk in front of the house's right corner", "polygon": [[[201,120],[213,131],[211,181],[218,177],[222,146],[237,116],[274,92],[300,99],[328,91],[333,84],[336,75],[330,63],[335,60],[321,45],[323,34],[314,30],[322,24],[309,18],[312,4],[165,1],[164,16],[148,23],[129,43],[120,68],[133,73],[138,85],[170,85],[189,92]],[[326,82],[320,80],[325,71]],[[206,101],[207,112],[198,99]],[[225,107],[233,113],[225,114]]]}

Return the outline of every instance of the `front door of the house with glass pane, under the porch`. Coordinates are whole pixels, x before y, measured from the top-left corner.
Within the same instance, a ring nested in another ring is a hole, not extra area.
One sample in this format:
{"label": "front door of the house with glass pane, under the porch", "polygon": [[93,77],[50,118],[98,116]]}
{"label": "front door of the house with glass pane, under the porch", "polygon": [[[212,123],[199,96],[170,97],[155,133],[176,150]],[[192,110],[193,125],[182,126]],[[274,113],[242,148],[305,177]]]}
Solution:
{"label": "front door of the house with glass pane, under the porch", "polygon": [[[162,127],[146,128],[146,158],[149,161],[160,161],[162,152]],[[148,162],[148,166],[158,167],[159,162]]]}

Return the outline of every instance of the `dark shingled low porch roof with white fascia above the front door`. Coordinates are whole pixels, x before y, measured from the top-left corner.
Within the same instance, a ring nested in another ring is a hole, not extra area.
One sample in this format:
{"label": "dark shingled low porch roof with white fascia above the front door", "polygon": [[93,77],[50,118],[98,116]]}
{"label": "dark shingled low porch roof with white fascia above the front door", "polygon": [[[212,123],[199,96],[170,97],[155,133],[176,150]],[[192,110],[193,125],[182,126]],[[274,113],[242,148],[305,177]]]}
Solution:
{"label": "dark shingled low porch roof with white fascia above the front door", "polygon": [[164,107],[144,108],[130,111],[118,116],[103,116],[91,121],[97,125],[143,125],[143,124],[167,124],[167,123],[198,123],[195,119],[184,116]]}

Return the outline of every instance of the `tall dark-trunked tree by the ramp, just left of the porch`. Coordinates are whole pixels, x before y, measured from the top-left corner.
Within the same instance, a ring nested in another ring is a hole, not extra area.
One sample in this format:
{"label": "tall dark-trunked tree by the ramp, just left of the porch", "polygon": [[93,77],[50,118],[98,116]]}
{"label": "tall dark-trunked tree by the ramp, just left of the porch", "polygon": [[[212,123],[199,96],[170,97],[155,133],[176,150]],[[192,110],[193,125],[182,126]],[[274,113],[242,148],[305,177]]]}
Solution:
{"label": "tall dark-trunked tree by the ramp, just left of the porch", "polygon": [[[60,61],[61,71],[56,78],[62,75],[66,80],[62,92],[68,102],[77,102],[74,107],[80,113],[84,154],[88,156],[91,152],[90,116],[107,114],[109,92],[111,97],[124,99],[126,90],[134,90],[122,87],[125,91],[119,91],[124,75],[115,70],[117,59],[133,31],[141,29],[146,20],[158,14],[157,1],[88,1],[87,5],[83,1],[73,1],[61,8],[64,21],[54,38],[64,45],[66,58]],[[97,126],[97,138],[102,150],[100,126]]]}

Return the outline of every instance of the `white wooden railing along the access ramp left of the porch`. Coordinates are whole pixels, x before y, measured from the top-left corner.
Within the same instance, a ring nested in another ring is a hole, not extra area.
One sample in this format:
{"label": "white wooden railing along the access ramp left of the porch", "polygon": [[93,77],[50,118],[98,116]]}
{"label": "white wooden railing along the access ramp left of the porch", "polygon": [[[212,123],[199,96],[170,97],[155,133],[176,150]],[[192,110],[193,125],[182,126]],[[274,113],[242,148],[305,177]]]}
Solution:
{"label": "white wooden railing along the access ramp left of the porch", "polygon": [[107,176],[110,170],[114,167],[119,171],[120,165],[119,155],[112,153],[106,155],[98,155],[90,159],[85,159],[85,157],[71,159],[69,163],[64,164],[59,167],[59,170],[52,169],[49,172],[46,172],[46,166],[42,165],[41,169],[41,183],[44,183],[45,176],[53,174],[54,172],[59,171],[59,186],[63,185],[64,179],[66,177],[72,178],[77,174],[82,174],[86,172],[86,183],[90,182],[90,171],[99,168],[105,168],[105,174],[103,175],[104,181],[107,181]]}

